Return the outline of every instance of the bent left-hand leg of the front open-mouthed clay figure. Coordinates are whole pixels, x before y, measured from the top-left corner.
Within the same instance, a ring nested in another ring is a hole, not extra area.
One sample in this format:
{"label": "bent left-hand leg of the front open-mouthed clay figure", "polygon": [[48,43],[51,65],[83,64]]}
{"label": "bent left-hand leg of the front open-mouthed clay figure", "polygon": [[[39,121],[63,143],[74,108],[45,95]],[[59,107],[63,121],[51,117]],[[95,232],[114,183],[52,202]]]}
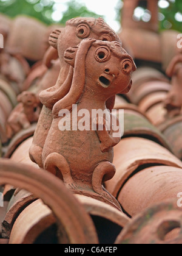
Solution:
{"label": "bent left-hand leg of the front open-mouthed clay figure", "polygon": [[44,162],[44,169],[62,179],[66,187],[73,190],[77,189],[71,176],[69,163],[62,155],[56,152],[48,155]]}

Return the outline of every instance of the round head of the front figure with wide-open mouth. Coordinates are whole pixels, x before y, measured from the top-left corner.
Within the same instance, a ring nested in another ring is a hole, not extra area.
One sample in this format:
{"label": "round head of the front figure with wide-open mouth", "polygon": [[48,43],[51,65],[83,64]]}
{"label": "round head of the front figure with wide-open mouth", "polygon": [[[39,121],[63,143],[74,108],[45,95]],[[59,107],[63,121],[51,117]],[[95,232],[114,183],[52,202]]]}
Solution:
{"label": "round head of the front figure with wide-open mouth", "polygon": [[[78,49],[81,48],[84,55],[86,51],[84,44],[87,41],[89,40],[84,40],[79,46],[67,49],[64,60],[75,66]],[[117,41],[95,40],[87,52],[85,70],[86,79],[90,82],[92,91],[110,98],[114,94],[129,92],[136,65]]]}

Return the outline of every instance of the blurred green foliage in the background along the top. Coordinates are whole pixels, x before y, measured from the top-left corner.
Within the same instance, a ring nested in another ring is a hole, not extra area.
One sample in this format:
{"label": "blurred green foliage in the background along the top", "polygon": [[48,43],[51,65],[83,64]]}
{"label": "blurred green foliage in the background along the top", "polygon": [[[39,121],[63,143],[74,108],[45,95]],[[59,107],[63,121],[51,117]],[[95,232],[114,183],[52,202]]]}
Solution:
{"label": "blurred green foliage in the background along the top", "polygon": [[[182,1],[168,1],[170,3],[169,7],[160,9],[160,29],[174,29],[181,31],[182,23],[176,20],[175,15],[178,12],[182,13]],[[121,18],[122,2],[123,0],[118,0],[118,6],[116,7],[118,21],[120,21]],[[85,5],[78,3],[76,0],[69,0],[66,5],[67,10],[64,12],[63,16],[60,13],[60,20],[58,23],[65,24],[67,20],[77,16],[92,16],[94,18],[101,16],[90,12]],[[55,23],[52,19],[52,13],[54,11],[55,1],[53,0],[0,0],[0,12],[10,17],[24,14],[33,16],[46,24],[52,24]]]}

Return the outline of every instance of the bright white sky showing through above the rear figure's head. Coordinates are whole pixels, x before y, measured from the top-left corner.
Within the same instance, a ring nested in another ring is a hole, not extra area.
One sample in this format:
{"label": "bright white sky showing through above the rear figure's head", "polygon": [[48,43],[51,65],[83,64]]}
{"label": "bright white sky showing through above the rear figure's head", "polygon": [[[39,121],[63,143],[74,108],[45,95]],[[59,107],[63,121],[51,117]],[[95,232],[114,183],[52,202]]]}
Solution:
{"label": "bright white sky showing through above the rear figure's head", "polygon": [[[66,10],[67,0],[54,0],[55,12],[53,13],[53,20],[56,21],[56,18],[60,19],[60,13]],[[80,3],[86,5],[87,9],[92,12],[95,12],[98,15],[104,15],[104,20],[109,24],[112,29],[118,31],[120,29],[120,23],[116,21],[116,10],[115,8],[118,4],[122,4],[120,0],[77,0]]]}

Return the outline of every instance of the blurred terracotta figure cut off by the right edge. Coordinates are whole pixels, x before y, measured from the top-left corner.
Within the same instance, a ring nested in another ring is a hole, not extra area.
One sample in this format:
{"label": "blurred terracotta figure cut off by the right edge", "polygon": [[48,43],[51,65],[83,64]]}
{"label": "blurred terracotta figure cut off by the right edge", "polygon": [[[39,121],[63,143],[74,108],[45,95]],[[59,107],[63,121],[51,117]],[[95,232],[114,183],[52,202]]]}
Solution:
{"label": "blurred terracotta figure cut off by the right edge", "polygon": [[172,88],[164,102],[170,118],[182,115],[182,52],[170,62],[166,71],[172,77]]}

